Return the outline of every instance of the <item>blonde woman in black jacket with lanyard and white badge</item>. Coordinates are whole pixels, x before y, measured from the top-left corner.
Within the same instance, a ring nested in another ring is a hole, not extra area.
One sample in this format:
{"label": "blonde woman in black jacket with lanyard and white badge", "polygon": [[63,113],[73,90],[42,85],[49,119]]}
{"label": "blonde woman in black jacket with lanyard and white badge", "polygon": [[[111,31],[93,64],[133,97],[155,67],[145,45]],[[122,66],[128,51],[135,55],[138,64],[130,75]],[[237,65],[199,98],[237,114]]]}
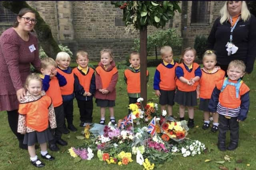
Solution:
{"label": "blonde woman in black jacket with lanyard and white badge", "polygon": [[251,73],[256,54],[256,18],[250,14],[245,1],[226,1],[221,16],[212,26],[208,49],[217,55],[217,64],[226,71],[232,60],[242,60]]}

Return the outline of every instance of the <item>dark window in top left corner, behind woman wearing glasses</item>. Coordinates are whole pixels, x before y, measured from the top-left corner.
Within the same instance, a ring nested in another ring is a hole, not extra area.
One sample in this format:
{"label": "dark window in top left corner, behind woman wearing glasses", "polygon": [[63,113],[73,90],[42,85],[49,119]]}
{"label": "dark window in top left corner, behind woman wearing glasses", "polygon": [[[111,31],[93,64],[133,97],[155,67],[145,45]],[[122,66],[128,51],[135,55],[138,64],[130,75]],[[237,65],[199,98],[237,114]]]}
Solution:
{"label": "dark window in top left corner, behind woman wearing glasses", "polygon": [[7,8],[4,8],[2,2],[0,2],[0,23],[13,23],[17,14],[14,14]]}

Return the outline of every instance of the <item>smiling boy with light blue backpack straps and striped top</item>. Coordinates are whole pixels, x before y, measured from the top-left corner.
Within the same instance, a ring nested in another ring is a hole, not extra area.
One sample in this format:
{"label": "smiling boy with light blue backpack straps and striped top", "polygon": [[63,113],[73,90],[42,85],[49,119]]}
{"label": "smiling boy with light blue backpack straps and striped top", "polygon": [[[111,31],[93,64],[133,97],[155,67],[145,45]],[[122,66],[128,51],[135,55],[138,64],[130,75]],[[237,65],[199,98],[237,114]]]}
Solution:
{"label": "smiling boy with light blue backpack straps and striped top", "polygon": [[[238,147],[239,121],[244,121],[249,110],[249,87],[240,79],[244,76],[245,64],[234,60],[228,64],[228,77],[216,83],[209,102],[209,111],[219,114],[219,150],[234,150]],[[226,132],[230,130],[230,143],[226,148]]]}

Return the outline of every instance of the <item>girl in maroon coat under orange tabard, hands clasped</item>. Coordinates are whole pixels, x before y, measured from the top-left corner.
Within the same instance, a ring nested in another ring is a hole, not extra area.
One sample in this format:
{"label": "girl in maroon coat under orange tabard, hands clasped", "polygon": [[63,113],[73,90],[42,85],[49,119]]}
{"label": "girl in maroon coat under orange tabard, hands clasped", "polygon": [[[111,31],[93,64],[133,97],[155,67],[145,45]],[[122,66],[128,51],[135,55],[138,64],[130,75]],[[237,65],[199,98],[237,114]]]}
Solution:
{"label": "girl in maroon coat under orange tabard, hands clasped", "polygon": [[102,49],[100,51],[100,62],[96,68],[96,103],[100,107],[100,124],[105,124],[105,112],[108,107],[110,121],[116,124],[114,117],[114,106],[116,100],[116,83],[118,80],[118,70],[113,60],[111,49]]}

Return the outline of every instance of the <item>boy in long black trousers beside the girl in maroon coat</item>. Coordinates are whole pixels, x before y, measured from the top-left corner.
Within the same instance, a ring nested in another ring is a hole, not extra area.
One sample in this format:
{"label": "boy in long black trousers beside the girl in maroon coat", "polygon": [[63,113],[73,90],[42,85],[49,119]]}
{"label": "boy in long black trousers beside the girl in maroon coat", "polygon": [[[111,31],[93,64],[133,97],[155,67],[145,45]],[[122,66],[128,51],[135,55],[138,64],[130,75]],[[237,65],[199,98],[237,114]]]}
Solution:
{"label": "boy in long black trousers beside the girl in maroon coat", "polygon": [[80,126],[92,123],[93,96],[96,91],[95,75],[93,68],[88,66],[89,56],[85,51],[76,53],[78,66],[73,69],[75,86],[81,84],[82,90],[75,92],[78,108],[80,111]]}

